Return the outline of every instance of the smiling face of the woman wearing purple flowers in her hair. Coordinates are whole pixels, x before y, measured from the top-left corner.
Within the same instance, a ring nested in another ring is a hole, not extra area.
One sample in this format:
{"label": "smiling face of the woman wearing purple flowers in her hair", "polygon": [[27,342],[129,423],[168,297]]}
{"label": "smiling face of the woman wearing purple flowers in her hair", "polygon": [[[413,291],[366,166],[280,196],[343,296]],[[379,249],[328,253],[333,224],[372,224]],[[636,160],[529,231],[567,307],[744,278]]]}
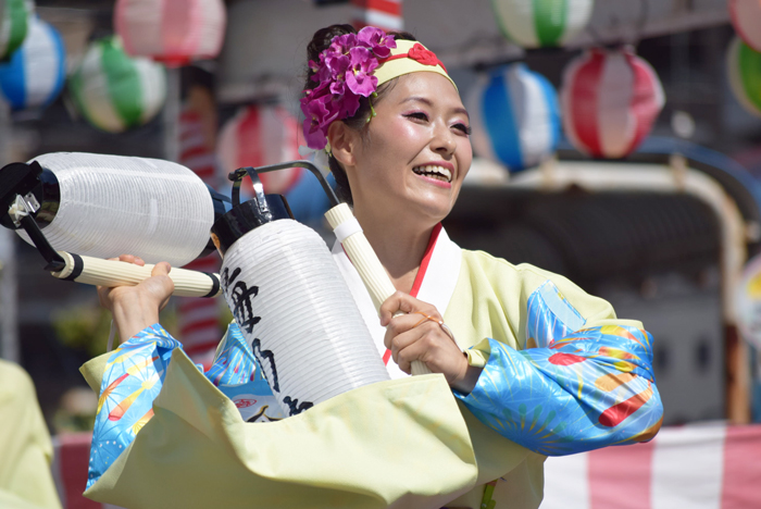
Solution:
{"label": "smiling face of the woman wearing purple flowers in her hair", "polygon": [[431,227],[454,206],[473,158],[460,95],[446,77],[417,72],[399,77],[374,108],[347,172],[354,212]]}

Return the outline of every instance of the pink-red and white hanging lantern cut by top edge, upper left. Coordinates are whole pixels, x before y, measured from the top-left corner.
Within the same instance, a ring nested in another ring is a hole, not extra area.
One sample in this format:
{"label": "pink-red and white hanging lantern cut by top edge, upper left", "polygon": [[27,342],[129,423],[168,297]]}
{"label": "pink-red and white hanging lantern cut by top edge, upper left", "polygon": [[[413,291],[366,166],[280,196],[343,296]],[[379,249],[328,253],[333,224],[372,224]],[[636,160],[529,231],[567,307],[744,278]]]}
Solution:
{"label": "pink-red and white hanging lantern cut by top edge, upper left", "polygon": [[169,66],[216,57],[225,22],[223,0],[117,0],[114,9],[127,53]]}

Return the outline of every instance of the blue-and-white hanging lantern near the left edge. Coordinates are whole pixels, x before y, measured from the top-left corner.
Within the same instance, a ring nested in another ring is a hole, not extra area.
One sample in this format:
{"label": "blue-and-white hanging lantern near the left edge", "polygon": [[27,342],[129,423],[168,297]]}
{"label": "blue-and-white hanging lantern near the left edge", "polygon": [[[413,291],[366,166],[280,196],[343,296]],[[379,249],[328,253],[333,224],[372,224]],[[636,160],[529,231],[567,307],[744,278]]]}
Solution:
{"label": "blue-and-white hanging lantern near the left edge", "polygon": [[48,23],[32,17],[22,47],[0,64],[0,89],[12,110],[50,104],[65,78],[66,51],[61,35]]}

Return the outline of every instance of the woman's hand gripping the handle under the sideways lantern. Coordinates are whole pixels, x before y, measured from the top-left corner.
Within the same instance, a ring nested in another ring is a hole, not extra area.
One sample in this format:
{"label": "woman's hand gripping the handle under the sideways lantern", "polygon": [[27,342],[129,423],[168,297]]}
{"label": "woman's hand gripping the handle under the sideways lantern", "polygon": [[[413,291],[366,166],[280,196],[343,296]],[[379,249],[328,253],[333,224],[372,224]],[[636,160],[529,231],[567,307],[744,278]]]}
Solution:
{"label": "woman's hand gripping the handle under the sideways lantern", "polygon": [[[140,258],[132,254],[122,254],[111,260],[140,266],[146,264]],[[113,314],[122,343],[159,322],[159,311],[164,309],[174,291],[174,282],[167,275],[171,270],[169,263],[159,262],[151,271],[151,277],[136,286],[98,286],[100,305]]]}

